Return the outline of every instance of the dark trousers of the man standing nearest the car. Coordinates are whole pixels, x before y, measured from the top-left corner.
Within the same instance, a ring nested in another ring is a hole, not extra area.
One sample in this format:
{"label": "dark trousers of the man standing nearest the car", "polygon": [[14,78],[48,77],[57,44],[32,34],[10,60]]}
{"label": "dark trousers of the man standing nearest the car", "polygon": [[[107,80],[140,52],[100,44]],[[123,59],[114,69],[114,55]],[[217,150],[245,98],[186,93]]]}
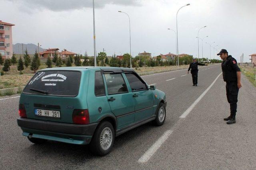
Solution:
{"label": "dark trousers of the man standing nearest the car", "polygon": [[236,117],[238,91],[237,82],[226,82],[226,95],[230,104],[230,115],[232,117]]}

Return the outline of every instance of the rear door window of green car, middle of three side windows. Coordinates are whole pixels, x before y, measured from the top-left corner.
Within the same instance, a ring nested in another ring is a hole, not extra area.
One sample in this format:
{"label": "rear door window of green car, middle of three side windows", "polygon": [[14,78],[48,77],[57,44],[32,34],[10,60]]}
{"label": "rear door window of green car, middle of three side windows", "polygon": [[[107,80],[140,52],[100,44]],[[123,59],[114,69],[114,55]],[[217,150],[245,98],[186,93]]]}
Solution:
{"label": "rear door window of green car, middle of three side windows", "polygon": [[124,78],[121,74],[104,74],[108,88],[108,94],[118,94],[128,92]]}

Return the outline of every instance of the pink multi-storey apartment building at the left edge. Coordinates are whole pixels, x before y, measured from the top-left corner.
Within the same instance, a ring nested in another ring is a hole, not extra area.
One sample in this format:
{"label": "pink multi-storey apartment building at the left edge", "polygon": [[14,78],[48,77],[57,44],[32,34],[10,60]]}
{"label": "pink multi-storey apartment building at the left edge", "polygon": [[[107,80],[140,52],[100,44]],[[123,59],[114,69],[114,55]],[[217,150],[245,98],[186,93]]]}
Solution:
{"label": "pink multi-storey apartment building at the left edge", "polygon": [[14,24],[0,20],[0,53],[3,59],[12,57],[12,26]]}

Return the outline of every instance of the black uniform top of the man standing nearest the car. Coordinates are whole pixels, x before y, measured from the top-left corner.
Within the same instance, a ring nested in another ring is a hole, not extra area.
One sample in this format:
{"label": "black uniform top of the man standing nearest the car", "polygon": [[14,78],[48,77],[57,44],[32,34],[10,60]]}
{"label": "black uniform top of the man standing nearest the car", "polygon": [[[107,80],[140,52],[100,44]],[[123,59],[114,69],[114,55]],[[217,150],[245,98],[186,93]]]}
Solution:
{"label": "black uniform top of the man standing nearest the car", "polygon": [[226,61],[222,61],[221,68],[222,68],[223,80],[225,82],[237,81],[236,72],[241,70],[237,65],[236,59],[234,59],[231,55],[229,55]]}

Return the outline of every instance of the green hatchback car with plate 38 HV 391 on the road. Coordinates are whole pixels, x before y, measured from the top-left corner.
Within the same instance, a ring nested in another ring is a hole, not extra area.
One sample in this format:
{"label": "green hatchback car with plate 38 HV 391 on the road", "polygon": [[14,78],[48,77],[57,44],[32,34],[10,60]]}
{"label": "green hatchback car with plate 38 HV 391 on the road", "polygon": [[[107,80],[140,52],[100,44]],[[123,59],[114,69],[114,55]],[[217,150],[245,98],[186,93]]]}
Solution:
{"label": "green hatchback car with plate 38 HV 391 on the road", "polygon": [[166,117],[165,93],[130,68],[39,70],[20,95],[18,125],[32,143],[90,145],[106,155],[118,135]]}

